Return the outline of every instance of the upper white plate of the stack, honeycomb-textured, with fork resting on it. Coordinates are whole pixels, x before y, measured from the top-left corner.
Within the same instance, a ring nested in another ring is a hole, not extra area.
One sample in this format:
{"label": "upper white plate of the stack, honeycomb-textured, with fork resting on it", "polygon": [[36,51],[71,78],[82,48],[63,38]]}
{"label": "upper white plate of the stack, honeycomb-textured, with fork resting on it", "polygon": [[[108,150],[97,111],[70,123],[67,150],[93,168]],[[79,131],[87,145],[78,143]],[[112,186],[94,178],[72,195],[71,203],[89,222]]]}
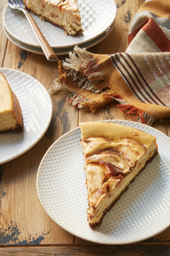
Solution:
{"label": "upper white plate of the stack, honeycomb-textured, with fork resting on it", "polygon": [[[113,24],[117,12],[114,0],[77,0],[77,3],[84,30],[82,35],[66,36],[62,29],[33,15],[51,47],[65,48],[83,44],[103,34]],[[6,5],[3,12],[3,23],[8,33],[18,41],[41,47],[22,11],[11,10]]]}

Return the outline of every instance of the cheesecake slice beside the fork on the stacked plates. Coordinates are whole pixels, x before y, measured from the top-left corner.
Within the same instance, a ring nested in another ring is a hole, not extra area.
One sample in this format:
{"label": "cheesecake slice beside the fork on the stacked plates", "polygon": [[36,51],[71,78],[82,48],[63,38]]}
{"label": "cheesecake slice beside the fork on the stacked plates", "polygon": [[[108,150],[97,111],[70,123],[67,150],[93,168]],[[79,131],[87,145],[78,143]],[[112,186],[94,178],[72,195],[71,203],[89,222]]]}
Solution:
{"label": "cheesecake slice beside the fork on the stacked plates", "polygon": [[83,32],[76,0],[24,0],[24,5],[45,21],[62,28],[66,35]]}

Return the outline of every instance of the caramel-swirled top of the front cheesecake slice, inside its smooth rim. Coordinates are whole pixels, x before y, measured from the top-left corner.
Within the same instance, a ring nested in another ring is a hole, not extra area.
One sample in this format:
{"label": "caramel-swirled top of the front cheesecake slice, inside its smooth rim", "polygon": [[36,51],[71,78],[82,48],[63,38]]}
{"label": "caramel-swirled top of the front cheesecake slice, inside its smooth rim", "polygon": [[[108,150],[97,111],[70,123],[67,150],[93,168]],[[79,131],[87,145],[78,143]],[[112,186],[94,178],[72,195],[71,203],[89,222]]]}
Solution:
{"label": "caramel-swirled top of the front cheesecake slice, inside its smooth rim", "polygon": [[95,216],[103,198],[122,182],[146,149],[129,138],[119,138],[119,142],[115,142],[104,137],[90,137],[84,143],[90,218]]}

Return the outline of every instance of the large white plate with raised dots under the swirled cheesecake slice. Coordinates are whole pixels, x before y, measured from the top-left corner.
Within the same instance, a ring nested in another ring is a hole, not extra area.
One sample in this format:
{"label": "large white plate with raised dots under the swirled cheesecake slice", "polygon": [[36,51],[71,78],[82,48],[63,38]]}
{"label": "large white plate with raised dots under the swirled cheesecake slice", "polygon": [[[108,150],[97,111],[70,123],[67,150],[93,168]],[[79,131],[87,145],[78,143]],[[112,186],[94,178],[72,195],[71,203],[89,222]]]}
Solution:
{"label": "large white plate with raised dots under the swirled cheesecake slice", "polygon": [[[170,138],[136,122],[109,120],[157,138],[159,154],[137,176],[100,227],[87,222],[87,188],[80,127],[61,136],[44,155],[37,173],[37,192],[47,214],[71,234],[101,244],[141,241],[170,225]],[[165,150],[166,149],[166,150]]]}

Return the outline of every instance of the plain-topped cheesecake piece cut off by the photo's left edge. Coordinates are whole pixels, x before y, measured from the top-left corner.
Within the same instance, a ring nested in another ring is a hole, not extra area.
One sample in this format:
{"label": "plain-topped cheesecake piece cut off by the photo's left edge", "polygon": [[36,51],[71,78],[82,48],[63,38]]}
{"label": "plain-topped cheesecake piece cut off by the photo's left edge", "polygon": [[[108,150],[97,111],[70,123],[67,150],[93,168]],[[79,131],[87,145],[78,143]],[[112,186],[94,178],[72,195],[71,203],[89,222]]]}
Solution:
{"label": "plain-topped cheesecake piece cut off by the photo's left edge", "polygon": [[19,101],[0,72],[0,133],[22,131],[23,118]]}

